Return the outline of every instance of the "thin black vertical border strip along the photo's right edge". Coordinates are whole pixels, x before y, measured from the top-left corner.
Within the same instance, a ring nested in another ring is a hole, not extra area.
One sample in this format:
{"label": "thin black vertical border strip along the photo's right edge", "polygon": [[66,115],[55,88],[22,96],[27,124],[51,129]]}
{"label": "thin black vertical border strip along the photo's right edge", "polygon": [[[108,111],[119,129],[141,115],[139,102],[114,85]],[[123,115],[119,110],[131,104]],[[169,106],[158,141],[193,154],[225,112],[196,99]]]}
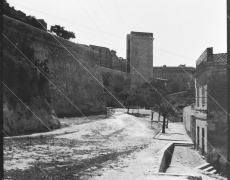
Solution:
{"label": "thin black vertical border strip along the photo's right edge", "polygon": [[230,0],[227,0],[227,121],[228,121],[228,149],[227,149],[227,178],[230,180]]}

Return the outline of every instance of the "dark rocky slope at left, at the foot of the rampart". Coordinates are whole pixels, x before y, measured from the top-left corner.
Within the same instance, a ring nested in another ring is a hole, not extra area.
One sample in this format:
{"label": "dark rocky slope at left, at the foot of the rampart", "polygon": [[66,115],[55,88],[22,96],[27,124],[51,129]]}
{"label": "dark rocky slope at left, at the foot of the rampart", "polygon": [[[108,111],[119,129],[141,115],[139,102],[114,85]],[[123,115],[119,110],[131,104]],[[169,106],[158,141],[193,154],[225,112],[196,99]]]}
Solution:
{"label": "dark rocky slope at left, at the foot of the rampart", "polygon": [[[44,76],[48,78],[48,73],[42,67],[36,69],[31,66],[13,47],[10,48],[9,43],[4,45],[4,134],[28,134],[59,128],[60,122],[50,101],[49,81]],[[29,46],[26,52],[33,55]]]}

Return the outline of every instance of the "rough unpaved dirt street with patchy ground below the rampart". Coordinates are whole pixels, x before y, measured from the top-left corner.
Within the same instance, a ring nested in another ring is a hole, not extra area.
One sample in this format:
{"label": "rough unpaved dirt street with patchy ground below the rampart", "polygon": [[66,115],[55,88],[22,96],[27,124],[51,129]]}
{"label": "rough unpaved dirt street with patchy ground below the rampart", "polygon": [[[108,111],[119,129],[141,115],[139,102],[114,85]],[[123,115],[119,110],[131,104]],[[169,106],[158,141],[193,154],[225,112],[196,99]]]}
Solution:
{"label": "rough unpaved dirt street with patchy ground below the rampart", "polygon": [[107,119],[65,118],[68,127],[8,138],[5,179],[118,179],[117,171],[124,172],[120,179],[148,176],[157,168],[153,158],[167,144],[153,139],[160,126],[151,128],[149,113],[135,117],[117,110]]}

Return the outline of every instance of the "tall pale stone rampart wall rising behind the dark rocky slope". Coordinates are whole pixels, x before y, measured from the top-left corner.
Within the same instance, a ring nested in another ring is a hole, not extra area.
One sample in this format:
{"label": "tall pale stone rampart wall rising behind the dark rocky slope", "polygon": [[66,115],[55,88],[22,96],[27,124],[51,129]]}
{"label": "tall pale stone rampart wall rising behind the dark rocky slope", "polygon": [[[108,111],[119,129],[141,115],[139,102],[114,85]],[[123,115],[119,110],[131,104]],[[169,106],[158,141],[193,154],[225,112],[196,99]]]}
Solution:
{"label": "tall pale stone rampart wall rising behind the dark rocky slope", "polygon": [[[4,16],[4,34],[15,44],[28,42],[34,49],[31,61],[48,59],[50,80],[85,115],[106,113],[106,104],[102,86],[90,75],[102,83],[100,67],[94,62],[95,53],[73,42],[55,36],[70,51],[73,58],[51,34]],[[87,72],[78,62],[82,63]],[[51,87],[51,102],[59,117],[82,116],[82,114],[59,92]]]}

